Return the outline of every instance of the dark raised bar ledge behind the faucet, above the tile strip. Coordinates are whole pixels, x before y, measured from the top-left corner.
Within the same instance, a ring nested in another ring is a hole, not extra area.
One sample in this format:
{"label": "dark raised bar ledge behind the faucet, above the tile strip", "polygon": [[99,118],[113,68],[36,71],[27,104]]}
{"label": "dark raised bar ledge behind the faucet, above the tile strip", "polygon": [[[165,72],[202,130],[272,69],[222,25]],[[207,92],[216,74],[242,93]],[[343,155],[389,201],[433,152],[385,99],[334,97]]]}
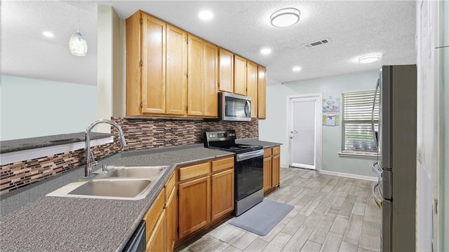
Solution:
{"label": "dark raised bar ledge behind the faucet, above the tile strip", "polygon": [[[27,139],[0,141],[0,153],[25,151],[34,148],[58,146],[61,144],[72,144],[80,141],[85,141],[85,134],[85,132],[78,132],[71,134],[58,134],[46,137],[32,137]],[[91,139],[102,139],[111,136],[112,134],[107,133],[91,133]]]}

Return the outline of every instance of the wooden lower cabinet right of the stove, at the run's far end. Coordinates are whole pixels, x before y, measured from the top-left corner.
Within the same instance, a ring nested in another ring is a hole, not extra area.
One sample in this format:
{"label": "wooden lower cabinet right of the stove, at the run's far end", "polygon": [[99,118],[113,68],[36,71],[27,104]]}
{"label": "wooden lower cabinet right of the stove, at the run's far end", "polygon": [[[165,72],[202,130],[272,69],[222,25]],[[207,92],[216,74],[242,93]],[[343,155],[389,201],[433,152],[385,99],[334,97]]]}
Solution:
{"label": "wooden lower cabinet right of the stove, at the run's far end", "polygon": [[281,182],[281,146],[264,149],[264,193],[269,193]]}

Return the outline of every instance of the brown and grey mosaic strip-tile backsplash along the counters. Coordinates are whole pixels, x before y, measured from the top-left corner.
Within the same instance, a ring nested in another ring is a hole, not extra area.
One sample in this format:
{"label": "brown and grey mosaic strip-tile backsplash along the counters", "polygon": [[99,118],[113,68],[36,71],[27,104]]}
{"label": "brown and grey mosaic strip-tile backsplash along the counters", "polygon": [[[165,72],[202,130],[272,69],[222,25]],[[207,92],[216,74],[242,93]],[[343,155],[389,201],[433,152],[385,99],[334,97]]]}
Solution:
{"label": "brown and grey mosaic strip-tile backsplash along the counters", "polygon": [[[125,150],[201,144],[203,142],[203,130],[236,130],[238,139],[258,137],[257,119],[250,122],[209,122],[152,118],[112,118],[112,120],[123,129],[128,144]],[[117,136],[114,128],[112,128],[112,132]],[[118,137],[114,137],[114,139],[114,143],[92,148],[97,160],[119,151],[119,139]],[[0,195],[84,165],[84,153],[83,149],[79,149],[2,165],[0,167]]]}

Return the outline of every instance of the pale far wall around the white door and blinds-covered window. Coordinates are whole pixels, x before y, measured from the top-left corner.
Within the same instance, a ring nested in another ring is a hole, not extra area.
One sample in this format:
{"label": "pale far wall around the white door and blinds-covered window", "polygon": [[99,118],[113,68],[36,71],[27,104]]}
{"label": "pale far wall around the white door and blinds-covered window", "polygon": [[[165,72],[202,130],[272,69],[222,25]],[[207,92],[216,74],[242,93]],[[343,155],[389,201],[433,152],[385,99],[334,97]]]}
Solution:
{"label": "pale far wall around the white door and blinds-covered window", "polygon": [[[281,146],[281,166],[288,167],[288,137],[287,137],[287,96],[293,94],[323,94],[323,99],[340,97],[342,91],[374,89],[379,76],[378,71],[351,73],[328,78],[302,80],[283,85],[267,86],[267,119],[259,120],[259,139],[274,141]],[[340,112],[341,113],[341,112]],[[342,158],[341,150],[342,128],[323,125],[323,160],[321,169],[330,172],[342,172],[361,176],[374,177],[371,172],[373,160],[366,158]]]}

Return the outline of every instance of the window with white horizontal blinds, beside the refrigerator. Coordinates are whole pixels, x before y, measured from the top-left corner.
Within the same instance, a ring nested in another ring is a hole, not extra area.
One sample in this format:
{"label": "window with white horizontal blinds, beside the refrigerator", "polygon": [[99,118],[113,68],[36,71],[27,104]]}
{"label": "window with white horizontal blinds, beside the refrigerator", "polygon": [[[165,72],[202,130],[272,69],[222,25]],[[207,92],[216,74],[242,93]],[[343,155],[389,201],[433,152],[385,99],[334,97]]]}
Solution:
{"label": "window with white horizontal blinds, beside the refrigerator", "polygon": [[[344,92],[342,96],[342,153],[377,153],[372,123],[377,133],[379,94],[376,95],[375,90],[367,90]],[[375,98],[374,118],[372,118]]]}

